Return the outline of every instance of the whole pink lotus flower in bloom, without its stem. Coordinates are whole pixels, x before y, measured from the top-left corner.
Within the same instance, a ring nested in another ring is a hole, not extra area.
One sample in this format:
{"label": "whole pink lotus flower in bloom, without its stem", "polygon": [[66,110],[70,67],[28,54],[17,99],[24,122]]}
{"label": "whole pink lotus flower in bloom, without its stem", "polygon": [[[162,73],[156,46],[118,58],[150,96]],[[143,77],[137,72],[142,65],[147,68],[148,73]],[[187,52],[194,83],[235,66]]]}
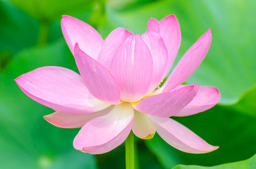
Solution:
{"label": "whole pink lotus flower in bloom, without its stem", "polygon": [[16,83],[31,99],[56,111],[44,117],[48,122],[81,127],[75,149],[106,153],[122,144],[131,130],[141,139],[158,132],[187,153],[218,149],[169,118],[206,111],[220,100],[215,87],[181,85],[204,60],[211,30],[190,47],[161,88],[180,47],[175,15],[160,21],[151,18],[141,36],[117,28],[105,41],[87,23],[64,15],[62,32],[81,75],[47,66],[21,75]]}

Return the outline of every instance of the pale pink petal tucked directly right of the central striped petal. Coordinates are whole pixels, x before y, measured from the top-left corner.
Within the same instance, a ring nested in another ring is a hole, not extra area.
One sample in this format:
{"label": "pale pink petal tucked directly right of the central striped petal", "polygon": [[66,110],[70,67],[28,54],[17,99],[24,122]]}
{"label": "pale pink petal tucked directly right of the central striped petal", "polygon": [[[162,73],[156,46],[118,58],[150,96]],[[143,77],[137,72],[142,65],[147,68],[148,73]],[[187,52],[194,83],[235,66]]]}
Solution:
{"label": "pale pink petal tucked directly right of the central striped petal", "polygon": [[153,78],[148,94],[151,94],[161,83],[168,58],[168,51],[163,39],[156,32],[146,32],[141,36],[151,51],[153,58]]}

